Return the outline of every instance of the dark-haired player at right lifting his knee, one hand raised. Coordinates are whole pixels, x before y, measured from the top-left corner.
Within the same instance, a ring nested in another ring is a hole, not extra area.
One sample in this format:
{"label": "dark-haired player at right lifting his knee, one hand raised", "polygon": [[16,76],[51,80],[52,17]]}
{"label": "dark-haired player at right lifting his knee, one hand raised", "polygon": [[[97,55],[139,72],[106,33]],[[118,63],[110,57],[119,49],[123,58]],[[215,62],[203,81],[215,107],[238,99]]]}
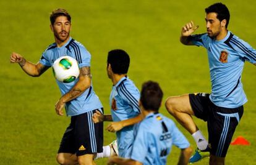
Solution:
{"label": "dark-haired player at right lifting his knee, one hand raised", "polygon": [[[203,158],[210,151],[210,164],[224,164],[233,137],[247,102],[242,89],[241,74],[244,62],[256,65],[256,50],[239,39],[228,28],[229,10],[221,3],[205,9],[207,33],[195,34],[193,22],[182,27],[180,41],[185,45],[207,49],[210,66],[211,94],[185,94],[169,97],[166,108],[192,134],[197,148],[190,162]],[[207,121],[208,142],[192,117]]]}

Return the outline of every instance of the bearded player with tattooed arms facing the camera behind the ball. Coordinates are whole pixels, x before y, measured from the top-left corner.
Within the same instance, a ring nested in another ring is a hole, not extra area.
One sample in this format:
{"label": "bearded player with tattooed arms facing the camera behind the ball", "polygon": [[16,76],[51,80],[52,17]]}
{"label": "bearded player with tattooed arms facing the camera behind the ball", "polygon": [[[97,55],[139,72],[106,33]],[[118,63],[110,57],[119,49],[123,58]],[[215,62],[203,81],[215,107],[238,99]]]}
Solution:
{"label": "bearded player with tattooed arms facing the camera behind the ball", "polygon": [[55,105],[56,113],[64,115],[62,108],[65,107],[67,116],[71,116],[56,159],[59,164],[95,164],[93,154],[103,150],[103,124],[93,123],[92,115],[95,110],[103,113],[103,108],[93,91],[91,55],[82,44],[70,37],[71,17],[65,9],[53,10],[50,20],[55,42],[43,52],[39,62],[28,62],[15,52],[10,60],[19,63],[25,73],[35,77],[44,73],[59,57],[69,55],[77,60],[79,79],[70,83],[56,81],[62,94]]}

